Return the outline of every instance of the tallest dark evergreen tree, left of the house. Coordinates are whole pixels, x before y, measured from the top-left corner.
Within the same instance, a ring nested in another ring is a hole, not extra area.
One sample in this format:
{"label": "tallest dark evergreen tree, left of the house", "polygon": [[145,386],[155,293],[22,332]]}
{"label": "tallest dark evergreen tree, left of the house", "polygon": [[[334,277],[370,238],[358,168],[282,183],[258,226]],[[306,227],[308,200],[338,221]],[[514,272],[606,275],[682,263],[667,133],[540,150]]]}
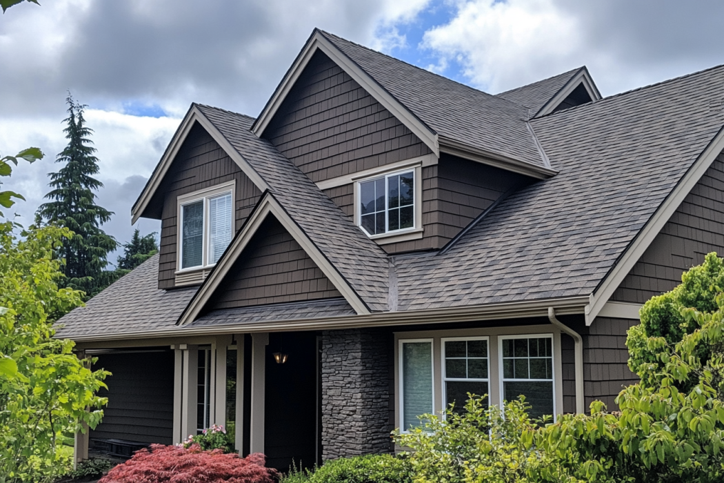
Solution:
{"label": "tallest dark evergreen tree, left of the house", "polygon": [[[68,93],[68,117],[63,122],[68,145],[56,156],[56,163],[64,166],[59,172],[49,173],[52,200],[41,205],[39,214],[53,224],[69,228],[75,233],[64,239],[59,256],[65,259],[64,285],[83,290],[86,298],[96,295],[109,285],[112,272],[106,272],[108,253],[117,248],[116,240],[106,235],[101,225],[113,214],[96,204],[98,188],[103,183],[93,178],[98,173],[96,148],[90,146],[93,130],[85,126],[85,104],[77,104]],[[107,280],[106,280],[107,279]]]}

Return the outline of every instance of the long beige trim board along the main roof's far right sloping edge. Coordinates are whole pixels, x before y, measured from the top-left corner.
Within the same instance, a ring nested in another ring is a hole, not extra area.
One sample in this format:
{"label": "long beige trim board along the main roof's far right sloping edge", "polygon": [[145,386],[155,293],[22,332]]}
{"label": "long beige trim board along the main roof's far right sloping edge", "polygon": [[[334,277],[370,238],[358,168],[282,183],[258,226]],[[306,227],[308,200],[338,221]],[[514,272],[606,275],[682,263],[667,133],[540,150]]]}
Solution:
{"label": "long beige trim board along the main roof's far right sloping edge", "polygon": [[[601,315],[602,309],[610,300],[611,296],[621,285],[623,279],[626,278],[628,272],[631,272],[633,266],[639,261],[644,252],[653,243],[656,235],[663,230],[664,225],[673,216],[679,205],[684,201],[689,192],[694,189],[704,173],[712,165],[717,156],[724,151],[724,127],[722,127],[717,135],[710,141],[706,149],[689,167],[686,174],[675,188],[669,193],[666,199],[661,203],[659,208],[654,212],[647,224],[639,231],[636,238],[633,239],[626,251],[623,252],[620,259],[608,272],[607,276],[600,282],[599,286],[591,294],[591,302],[586,307],[586,325],[591,325],[597,316]],[[636,317],[638,318],[638,317]]]}

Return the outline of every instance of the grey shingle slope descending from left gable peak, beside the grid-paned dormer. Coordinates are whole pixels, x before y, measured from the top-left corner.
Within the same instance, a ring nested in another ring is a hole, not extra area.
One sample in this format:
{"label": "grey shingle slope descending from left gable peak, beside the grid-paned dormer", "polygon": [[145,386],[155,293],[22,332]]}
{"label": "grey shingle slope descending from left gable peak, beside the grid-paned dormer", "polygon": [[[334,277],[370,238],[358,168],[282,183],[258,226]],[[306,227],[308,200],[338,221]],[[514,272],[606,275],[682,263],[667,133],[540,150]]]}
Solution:
{"label": "grey shingle slope descending from left gable peak, beside the grid-paned dormer", "polygon": [[274,145],[251,133],[252,117],[210,106],[198,108],[264,178],[277,201],[370,310],[387,310],[389,262],[382,248]]}

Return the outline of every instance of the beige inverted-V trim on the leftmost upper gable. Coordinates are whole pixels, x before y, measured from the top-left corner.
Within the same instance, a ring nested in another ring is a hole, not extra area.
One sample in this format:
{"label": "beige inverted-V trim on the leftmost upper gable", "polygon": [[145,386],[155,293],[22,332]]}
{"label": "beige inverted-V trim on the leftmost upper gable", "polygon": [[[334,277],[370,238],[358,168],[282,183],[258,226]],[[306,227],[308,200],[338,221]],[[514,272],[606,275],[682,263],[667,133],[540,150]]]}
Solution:
{"label": "beige inverted-V trim on the leftmost upper gable", "polygon": [[136,203],[133,205],[131,209],[131,224],[134,224],[138,221],[138,218],[140,218],[140,215],[146,209],[148,203],[151,202],[151,198],[153,198],[153,193],[156,193],[156,190],[159,188],[161,181],[166,176],[172,162],[174,161],[174,158],[178,154],[178,151],[186,140],[186,136],[188,136],[188,133],[190,132],[191,127],[193,127],[195,122],[198,122],[198,124],[201,125],[201,127],[203,127],[206,132],[209,133],[209,135],[211,135],[211,138],[214,138],[216,143],[219,143],[219,146],[221,146],[226,154],[234,160],[237,166],[244,172],[245,175],[249,177],[249,179],[251,179],[254,185],[259,188],[259,190],[264,191],[269,189],[269,185],[266,183],[266,181],[264,181],[264,179],[256,172],[256,170],[251,167],[251,164],[249,164],[243,158],[243,156],[239,154],[239,152],[231,145],[231,143],[229,143],[227,138],[224,138],[224,135],[222,135],[222,133],[220,133],[219,130],[216,129],[216,126],[214,126],[211,121],[209,121],[209,119],[207,119],[206,116],[203,115],[203,113],[198,109],[197,106],[192,106],[191,109],[189,109],[189,112],[186,114],[186,117],[184,117],[184,119],[182,120],[178,130],[174,134],[171,143],[164,152],[164,156],[161,157],[158,169],[156,169],[156,172],[153,173],[151,180],[148,181],[148,183],[146,184],[146,188],[143,189],[143,192],[138,197],[138,201],[136,201]]}

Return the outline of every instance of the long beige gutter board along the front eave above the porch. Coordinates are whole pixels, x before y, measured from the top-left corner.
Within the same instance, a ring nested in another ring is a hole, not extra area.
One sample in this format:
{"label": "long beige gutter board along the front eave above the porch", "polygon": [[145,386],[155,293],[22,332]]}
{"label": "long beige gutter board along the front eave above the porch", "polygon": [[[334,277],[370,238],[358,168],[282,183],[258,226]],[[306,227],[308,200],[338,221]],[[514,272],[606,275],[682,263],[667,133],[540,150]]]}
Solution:
{"label": "long beige gutter board along the front eave above the porch", "polygon": [[[356,316],[321,317],[318,319],[285,320],[279,322],[252,322],[223,324],[206,327],[171,327],[168,329],[117,334],[90,334],[70,336],[77,343],[108,342],[113,340],[148,340],[160,337],[201,337],[218,334],[251,332],[291,332],[323,329],[358,329],[363,327],[390,327],[445,322],[479,322],[484,320],[510,320],[548,316],[555,308],[557,315],[584,314],[589,297],[549,298],[539,301],[492,303],[467,307],[432,308],[420,311],[376,312]],[[85,345],[84,345],[85,347]],[[90,347],[90,346],[89,346]]]}

